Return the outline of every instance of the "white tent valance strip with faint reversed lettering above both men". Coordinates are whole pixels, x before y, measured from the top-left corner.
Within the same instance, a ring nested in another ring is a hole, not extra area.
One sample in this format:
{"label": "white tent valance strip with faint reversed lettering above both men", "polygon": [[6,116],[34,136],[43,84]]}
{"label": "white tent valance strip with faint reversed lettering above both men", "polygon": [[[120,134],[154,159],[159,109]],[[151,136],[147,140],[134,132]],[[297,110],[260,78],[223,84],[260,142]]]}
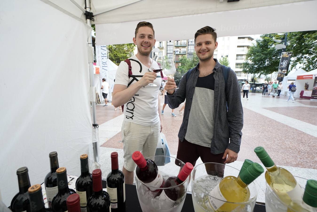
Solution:
{"label": "white tent valance strip with faint reversed lettering above both men", "polygon": [[[192,39],[206,25],[215,28],[218,37],[308,31],[316,30],[315,8],[316,0],[146,21],[153,24],[157,41]],[[132,43],[138,22],[96,24],[96,45]]]}

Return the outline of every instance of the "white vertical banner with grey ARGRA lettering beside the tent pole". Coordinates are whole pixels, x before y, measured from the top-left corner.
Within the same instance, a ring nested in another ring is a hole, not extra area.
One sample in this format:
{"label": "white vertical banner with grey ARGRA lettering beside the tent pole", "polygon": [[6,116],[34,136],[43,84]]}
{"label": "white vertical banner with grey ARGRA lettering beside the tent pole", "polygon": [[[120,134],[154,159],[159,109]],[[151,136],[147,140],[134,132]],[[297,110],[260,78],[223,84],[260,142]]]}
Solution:
{"label": "white vertical banner with grey ARGRA lettering beside the tent pole", "polygon": [[[109,64],[108,64],[108,49],[107,45],[105,46],[96,46],[96,61],[97,66],[100,67],[100,84],[103,78],[106,79],[106,82],[109,83]],[[100,94],[103,99],[102,95]]]}

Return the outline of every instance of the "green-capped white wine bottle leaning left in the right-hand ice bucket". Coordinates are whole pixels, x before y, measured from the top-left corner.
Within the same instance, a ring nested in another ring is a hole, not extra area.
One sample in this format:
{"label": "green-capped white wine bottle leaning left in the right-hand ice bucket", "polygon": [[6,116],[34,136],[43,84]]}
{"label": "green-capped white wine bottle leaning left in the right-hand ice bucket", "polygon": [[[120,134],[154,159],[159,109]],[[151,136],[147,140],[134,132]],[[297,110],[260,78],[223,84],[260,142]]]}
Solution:
{"label": "green-capped white wine bottle leaning left in the right-hand ice bucket", "polygon": [[266,182],[281,201],[288,205],[292,200],[301,200],[301,187],[294,176],[288,170],[277,167],[263,147],[256,147],[254,152],[267,169]]}

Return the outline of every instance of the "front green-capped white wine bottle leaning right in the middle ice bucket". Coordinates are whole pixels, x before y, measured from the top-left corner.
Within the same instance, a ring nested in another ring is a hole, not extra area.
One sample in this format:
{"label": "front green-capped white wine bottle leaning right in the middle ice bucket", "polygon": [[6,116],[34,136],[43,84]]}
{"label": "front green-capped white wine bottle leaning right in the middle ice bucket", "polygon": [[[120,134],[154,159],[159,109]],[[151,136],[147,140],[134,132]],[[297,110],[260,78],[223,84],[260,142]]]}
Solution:
{"label": "front green-capped white wine bottle leaning right in the middle ice bucket", "polygon": [[[215,211],[232,211],[243,204],[230,202],[247,202],[250,198],[248,185],[264,172],[258,163],[252,163],[238,177],[227,176],[210,192],[215,198],[209,198],[209,203]],[[223,200],[223,201],[219,201]]]}

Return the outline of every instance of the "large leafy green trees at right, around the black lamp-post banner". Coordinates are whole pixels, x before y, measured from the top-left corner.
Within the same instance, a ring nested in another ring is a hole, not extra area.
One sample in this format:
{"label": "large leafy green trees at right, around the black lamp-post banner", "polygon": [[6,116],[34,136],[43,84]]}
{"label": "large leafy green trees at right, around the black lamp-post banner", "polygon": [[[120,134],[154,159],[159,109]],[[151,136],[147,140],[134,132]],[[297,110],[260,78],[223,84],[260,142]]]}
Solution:
{"label": "large leafy green trees at right, around the black lamp-post banner", "polygon": [[[285,34],[261,35],[256,40],[256,44],[249,48],[246,62],[242,65],[244,73],[269,75],[278,71],[281,50],[275,49],[277,43],[272,38],[284,40]],[[289,32],[285,51],[292,52],[288,70],[292,70],[298,64],[302,64],[300,68],[307,71],[315,69],[317,66],[317,30]]]}

